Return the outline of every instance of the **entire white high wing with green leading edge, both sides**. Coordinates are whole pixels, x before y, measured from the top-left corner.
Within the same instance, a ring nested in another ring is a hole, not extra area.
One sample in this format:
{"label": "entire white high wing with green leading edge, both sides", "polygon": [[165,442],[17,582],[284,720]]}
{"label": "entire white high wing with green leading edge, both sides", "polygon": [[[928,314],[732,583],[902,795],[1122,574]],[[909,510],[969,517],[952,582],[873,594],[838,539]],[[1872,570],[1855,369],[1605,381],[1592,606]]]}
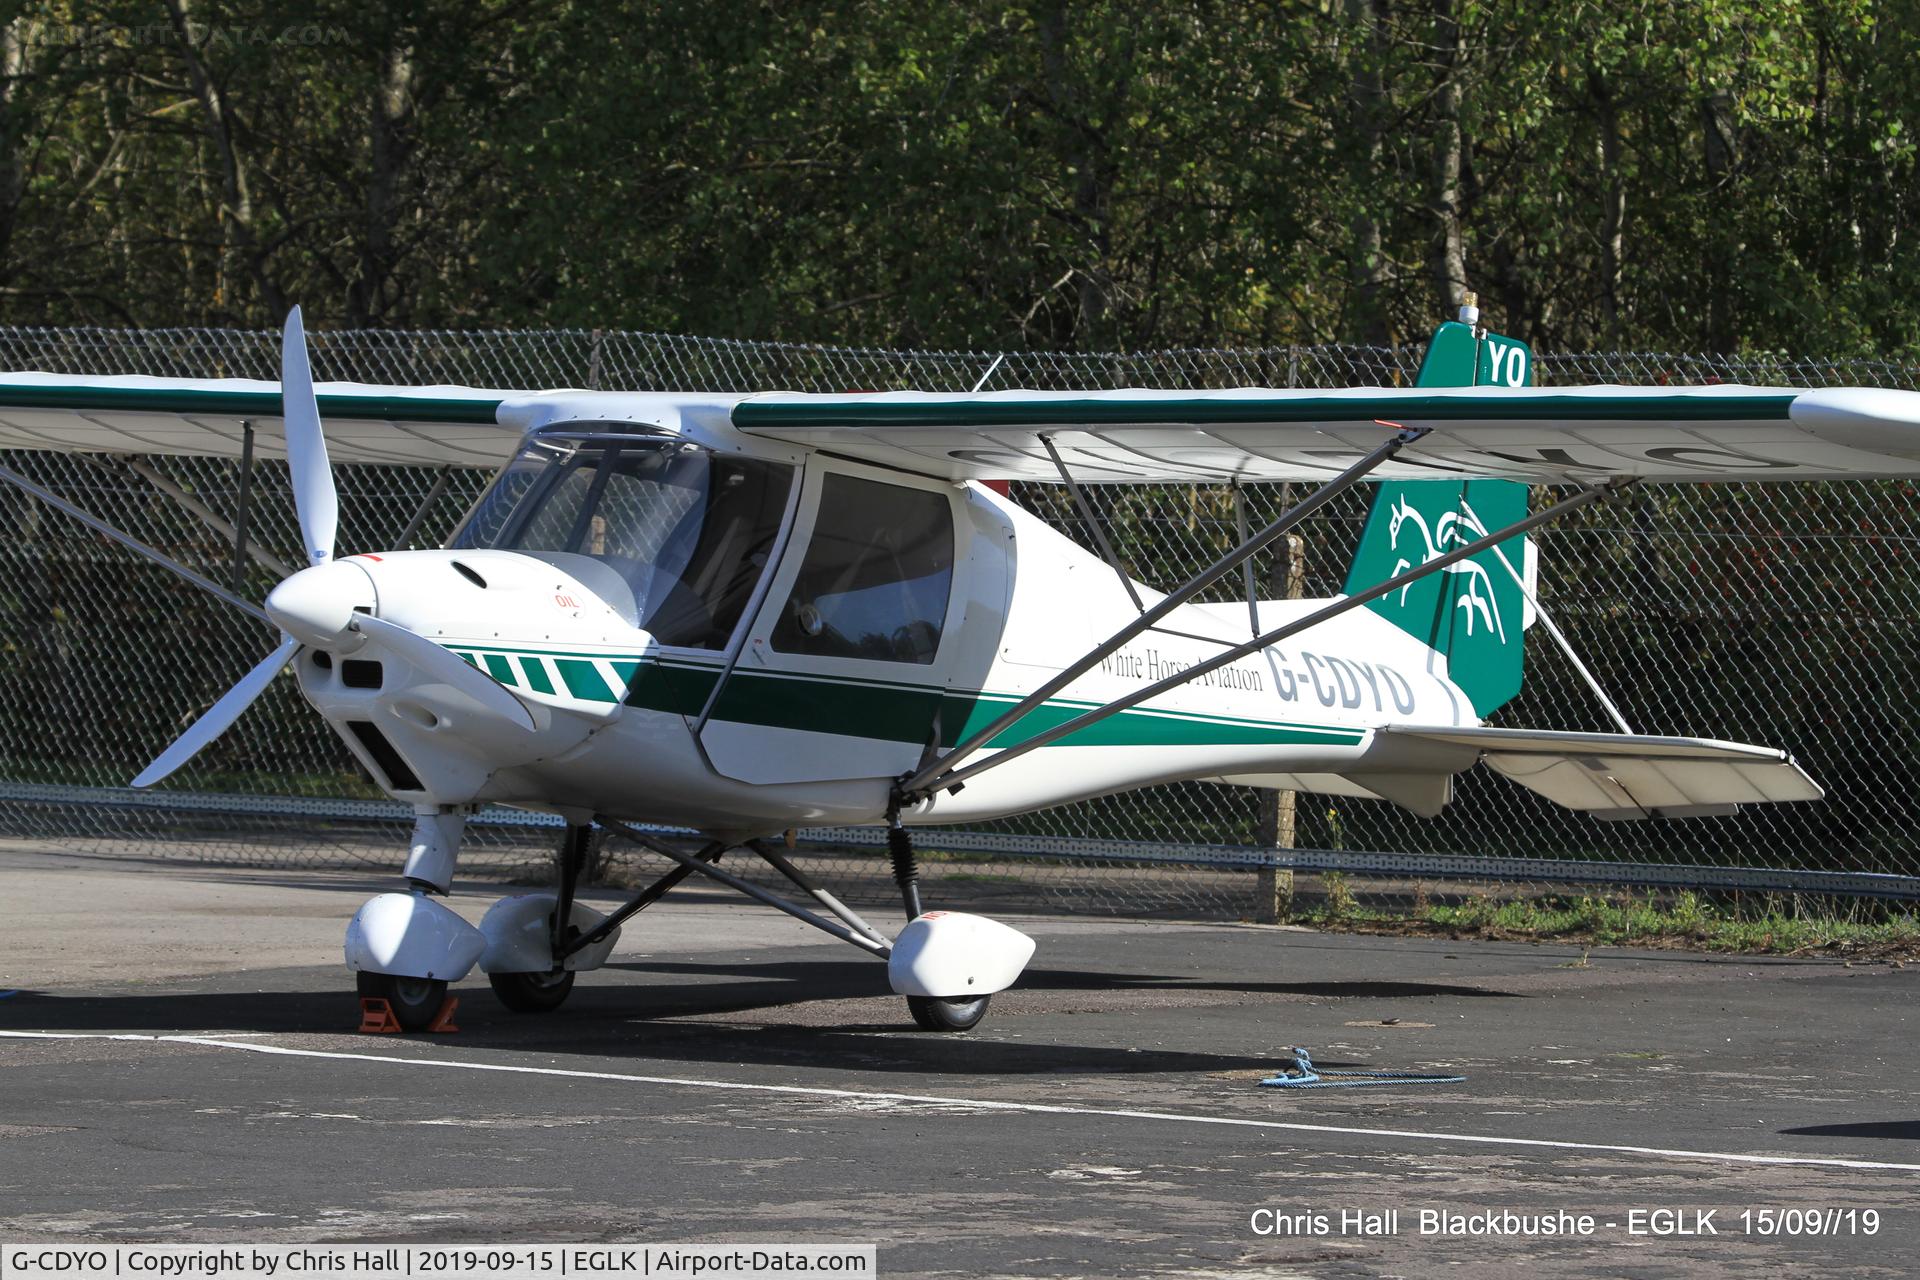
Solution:
{"label": "entire white high wing with green leading edge, both sides", "polygon": [[[336,461],[486,468],[534,424],[522,411],[551,415],[574,399],[355,382],[317,391]],[[659,407],[672,397],[632,399]],[[238,457],[246,422],[259,457],[284,455],[276,382],[0,374],[0,449]],[[1375,478],[1920,476],[1920,393],[1876,388],[768,393],[733,403],[732,424],[954,480],[1056,480],[1046,443],[1087,482],[1323,480],[1402,426],[1432,434]]]}

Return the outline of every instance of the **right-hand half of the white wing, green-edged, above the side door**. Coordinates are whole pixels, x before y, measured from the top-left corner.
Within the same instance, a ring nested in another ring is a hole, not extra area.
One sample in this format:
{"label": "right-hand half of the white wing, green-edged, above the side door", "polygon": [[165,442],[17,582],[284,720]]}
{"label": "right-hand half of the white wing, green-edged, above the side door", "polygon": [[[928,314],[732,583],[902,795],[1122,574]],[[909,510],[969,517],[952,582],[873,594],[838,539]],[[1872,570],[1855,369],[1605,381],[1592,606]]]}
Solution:
{"label": "right-hand half of the white wing, green-edged, above the side door", "polygon": [[[1323,480],[1400,426],[1375,478],[1920,476],[1920,391],[1876,388],[1354,388],[751,395],[733,426],[954,480]],[[1044,441],[1043,441],[1044,438]]]}

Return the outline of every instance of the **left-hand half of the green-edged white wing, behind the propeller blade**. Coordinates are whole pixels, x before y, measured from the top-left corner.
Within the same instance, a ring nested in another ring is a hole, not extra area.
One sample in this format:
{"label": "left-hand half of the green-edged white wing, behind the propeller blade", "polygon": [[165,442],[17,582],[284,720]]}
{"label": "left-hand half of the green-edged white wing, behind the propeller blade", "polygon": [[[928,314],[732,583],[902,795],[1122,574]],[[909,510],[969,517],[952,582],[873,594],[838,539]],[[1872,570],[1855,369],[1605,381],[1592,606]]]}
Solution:
{"label": "left-hand half of the green-edged white wing, behind the propeller blade", "polygon": [[[326,447],[336,462],[495,468],[520,426],[499,407],[516,391],[455,386],[321,382]],[[0,374],[0,449],[286,457],[280,384],[253,378],[75,378]]]}

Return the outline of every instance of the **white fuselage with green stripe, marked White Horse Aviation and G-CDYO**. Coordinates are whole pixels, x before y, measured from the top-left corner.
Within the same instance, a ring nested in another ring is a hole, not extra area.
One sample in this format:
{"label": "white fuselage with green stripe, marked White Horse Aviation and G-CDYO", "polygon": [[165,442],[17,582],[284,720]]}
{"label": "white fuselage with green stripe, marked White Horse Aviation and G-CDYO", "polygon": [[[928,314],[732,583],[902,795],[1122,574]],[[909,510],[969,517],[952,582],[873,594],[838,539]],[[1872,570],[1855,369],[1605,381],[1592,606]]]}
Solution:
{"label": "white fuselage with green stripe, marked White Horse Aviation and G-CDYO", "polygon": [[[490,716],[390,654],[301,654],[305,695],[397,798],[722,837],[872,823],[893,779],[1137,616],[1112,566],[983,486],[745,438],[726,424],[730,399],[607,401],[626,413],[530,420],[547,443],[447,549],[342,562],[367,578],[359,608],[532,710],[532,727]],[[1321,603],[1267,601],[1258,620],[1271,629]],[[977,758],[1250,629],[1244,603],[1181,606]],[[1478,720],[1444,656],[1356,608],[902,819],[977,821],[1179,779],[1438,808],[1448,773],[1398,760],[1375,733],[1392,723]]]}

